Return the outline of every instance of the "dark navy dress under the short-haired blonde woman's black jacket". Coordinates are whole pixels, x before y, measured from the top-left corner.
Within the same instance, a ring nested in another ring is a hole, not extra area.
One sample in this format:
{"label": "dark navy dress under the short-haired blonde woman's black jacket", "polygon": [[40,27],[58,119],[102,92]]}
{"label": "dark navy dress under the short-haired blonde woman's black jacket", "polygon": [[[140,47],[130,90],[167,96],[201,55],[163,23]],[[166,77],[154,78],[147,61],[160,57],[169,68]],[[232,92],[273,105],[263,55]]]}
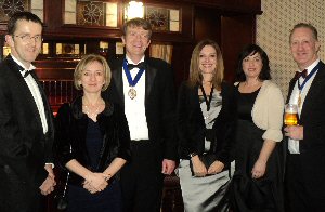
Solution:
{"label": "dark navy dress under the short-haired blonde woman's black jacket", "polygon": [[[90,161],[90,169],[95,170],[103,135],[98,122],[88,118],[86,146]],[[120,212],[121,191],[117,181],[112,182],[103,191],[90,194],[81,186],[68,187],[68,212]]]}

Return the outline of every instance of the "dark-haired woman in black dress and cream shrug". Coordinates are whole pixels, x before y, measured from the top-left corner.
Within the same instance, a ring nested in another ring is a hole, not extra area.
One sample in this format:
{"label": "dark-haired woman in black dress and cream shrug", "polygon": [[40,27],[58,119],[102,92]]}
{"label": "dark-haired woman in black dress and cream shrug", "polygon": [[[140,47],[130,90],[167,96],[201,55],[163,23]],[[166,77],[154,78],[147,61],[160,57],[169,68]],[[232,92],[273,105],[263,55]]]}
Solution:
{"label": "dark-haired woman in black dress and cream shrug", "polygon": [[236,84],[236,162],[233,176],[235,212],[283,211],[282,141],[284,98],[270,81],[266,53],[258,45],[239,55]]}

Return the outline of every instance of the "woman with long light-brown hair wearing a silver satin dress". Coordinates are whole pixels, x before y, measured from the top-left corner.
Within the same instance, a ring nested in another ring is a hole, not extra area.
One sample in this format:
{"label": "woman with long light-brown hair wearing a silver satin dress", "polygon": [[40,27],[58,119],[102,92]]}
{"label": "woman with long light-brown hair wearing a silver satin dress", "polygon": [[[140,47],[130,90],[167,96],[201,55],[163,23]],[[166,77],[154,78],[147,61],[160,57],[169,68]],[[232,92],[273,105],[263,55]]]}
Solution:
{"label": "woman with long light-brown hair wearing a silver satin dress", "polygon": [[223,69],[219,45],[203,40],[192,53],[190,79],[179,90],[178,174],[186,212],[218,211],[230,181],[235,104]]}

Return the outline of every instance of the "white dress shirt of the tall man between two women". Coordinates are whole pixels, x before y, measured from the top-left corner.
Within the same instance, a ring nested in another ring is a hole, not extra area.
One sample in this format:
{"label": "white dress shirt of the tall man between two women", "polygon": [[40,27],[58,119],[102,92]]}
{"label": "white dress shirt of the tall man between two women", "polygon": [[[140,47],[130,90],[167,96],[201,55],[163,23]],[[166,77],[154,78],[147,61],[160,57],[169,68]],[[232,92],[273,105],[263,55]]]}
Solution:
{"label": "white dress shirt of the tall man between two women", "polygon": [[[128,56],[126,57],[129,64],[134,64]],[[139,62],[144,62],[144,57]],[[139,68],[133,68],[130,70],[132,79],[139,72]],[[145,116],[145,71],[142,74],[140,80],[133,87],[136,91],[136,96],[131,100],[128,95],[130,85],[123,69],[122,75],[123,81],[123,94],[125,94],[125,114],[128,120],[130,137],[134,141],[148,140],[148,128]]]}

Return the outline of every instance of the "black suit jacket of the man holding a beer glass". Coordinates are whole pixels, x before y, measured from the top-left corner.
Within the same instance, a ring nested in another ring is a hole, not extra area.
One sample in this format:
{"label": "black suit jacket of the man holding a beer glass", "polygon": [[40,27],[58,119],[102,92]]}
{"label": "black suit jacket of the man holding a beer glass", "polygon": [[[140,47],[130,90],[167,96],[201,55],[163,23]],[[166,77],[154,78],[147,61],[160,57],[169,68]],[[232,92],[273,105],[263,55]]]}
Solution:
{"label": "black suit jacket of the man holding a beer glass", "polygon": [[[303,125],[303,140],[299,142],[300,159],[307,189],[317,199],[325,199],[325,64],[309,89],[302,106],[299,124]],[[290,81],[288,100],[296,80]],[[287,102],[288,102],[287,100]]]}

